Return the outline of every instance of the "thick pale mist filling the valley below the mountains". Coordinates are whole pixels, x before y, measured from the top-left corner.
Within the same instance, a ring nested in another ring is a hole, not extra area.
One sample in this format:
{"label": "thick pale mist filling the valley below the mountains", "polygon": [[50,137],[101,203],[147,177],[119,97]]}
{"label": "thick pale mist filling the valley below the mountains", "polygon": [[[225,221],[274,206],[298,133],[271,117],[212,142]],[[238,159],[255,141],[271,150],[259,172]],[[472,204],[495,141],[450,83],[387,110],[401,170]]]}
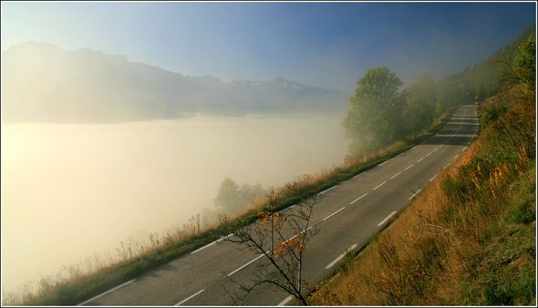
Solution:
{"label": "thick pale mist filling the valley below the mountains", "polygon": [[269,188],[341,164],[342,117],[3,124],[5,290],[180,227],[225,177]]}

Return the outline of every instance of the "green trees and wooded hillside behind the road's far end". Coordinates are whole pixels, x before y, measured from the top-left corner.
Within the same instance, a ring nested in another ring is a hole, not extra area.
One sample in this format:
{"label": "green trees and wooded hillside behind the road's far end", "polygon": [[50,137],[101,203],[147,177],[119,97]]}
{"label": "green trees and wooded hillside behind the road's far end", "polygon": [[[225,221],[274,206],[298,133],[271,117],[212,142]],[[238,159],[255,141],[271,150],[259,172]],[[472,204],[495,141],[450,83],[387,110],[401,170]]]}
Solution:
{"label": "green trees and wooded hillside behind the road's far end", "polygon": [[459,74],[439,81],[426,74],[403,87],[388,67],[372,67],[357,81],[343,120],[352,156],[413,139],[435,118],[463,104],[478,103],[501,90],[518,55],[518,46],[534,37],[534,25],[509,46]]}

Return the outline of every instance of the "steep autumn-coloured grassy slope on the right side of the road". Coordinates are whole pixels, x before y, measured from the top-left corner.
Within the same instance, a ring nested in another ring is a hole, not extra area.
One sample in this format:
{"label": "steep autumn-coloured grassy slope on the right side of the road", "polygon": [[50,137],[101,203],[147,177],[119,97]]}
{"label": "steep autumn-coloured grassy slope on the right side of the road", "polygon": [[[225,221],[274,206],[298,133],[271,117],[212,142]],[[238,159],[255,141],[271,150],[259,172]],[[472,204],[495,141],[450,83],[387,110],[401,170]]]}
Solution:
{"label": "steep autumn-coloured grassy slope on the right side of the road", "polygon": [[315,305],[536,305],[535,92],[481,104],[482,131]]}

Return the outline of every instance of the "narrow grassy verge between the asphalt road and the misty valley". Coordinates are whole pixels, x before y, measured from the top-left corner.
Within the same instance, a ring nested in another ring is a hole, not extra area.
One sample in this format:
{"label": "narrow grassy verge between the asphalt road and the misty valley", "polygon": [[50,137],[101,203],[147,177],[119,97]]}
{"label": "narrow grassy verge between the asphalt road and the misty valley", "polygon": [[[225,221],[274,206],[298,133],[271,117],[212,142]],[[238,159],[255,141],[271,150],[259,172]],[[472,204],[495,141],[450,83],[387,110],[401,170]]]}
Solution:
{"label": "narrow grassy verge between the asphalt road and the misty valley", "polygon": [[[361,157],[346,159],[342,166],[322,169],[319,173],[298,177],[293,182],[302,188],[305,194],[316,194],[326,190],[366,169],[377,166],[382,161],[394,157],[429,138],[442,128],[453,109],[438,118],[429,129],[425,129],[414,138],[398,141],[375,152]],[[286,194],[285,185],[280,189],[283,199],[279,209],[293,205],[297,196]],[[248,210],[233,220],[222,220],[203,230],[196,227],[195,221],[183,225],[182,230],[161,234],[152,234],[150,247],[128,240],[122,241],[117,255],[93,255],[80,264],[73,264],[58,271],[55,276],[46,276],[38,282],[27,282],[15,293],[3,293],[5,305],[73,305],[103,293],[110,288],[127,282],[158,266],[171,262],[203,245],[222,237],[222,231],[229,230],[230,225],[239,221],[253,221],[258,209],[264,207],[264,200],[255,200]]]}

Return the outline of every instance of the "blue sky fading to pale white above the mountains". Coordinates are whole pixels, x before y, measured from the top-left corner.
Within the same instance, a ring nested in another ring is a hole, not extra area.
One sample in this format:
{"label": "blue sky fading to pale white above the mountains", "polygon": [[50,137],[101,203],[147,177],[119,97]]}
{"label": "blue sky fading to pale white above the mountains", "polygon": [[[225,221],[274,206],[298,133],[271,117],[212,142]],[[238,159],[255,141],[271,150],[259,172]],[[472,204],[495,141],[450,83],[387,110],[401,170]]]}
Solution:
{"label": "blue sky fading to pale white above the mountains", "polygon": [[2,2],[2,51],[126,55],[185,76],[285,77],[352,94],[368,68],[458,73],[536,21],[534,2]]}

